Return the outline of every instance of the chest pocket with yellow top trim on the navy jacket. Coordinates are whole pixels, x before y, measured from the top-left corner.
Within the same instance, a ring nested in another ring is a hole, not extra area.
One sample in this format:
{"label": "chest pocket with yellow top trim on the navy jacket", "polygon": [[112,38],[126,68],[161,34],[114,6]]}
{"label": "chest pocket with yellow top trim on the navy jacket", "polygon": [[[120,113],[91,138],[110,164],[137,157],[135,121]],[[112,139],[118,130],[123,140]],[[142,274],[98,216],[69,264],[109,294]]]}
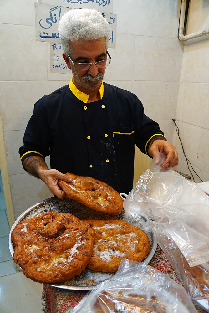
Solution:
{"label": "chest pocket with yellow top trim on the navy jacket", "polygon": [[134,150],[134,126],[113,128],[115,154],[130,154]]}

